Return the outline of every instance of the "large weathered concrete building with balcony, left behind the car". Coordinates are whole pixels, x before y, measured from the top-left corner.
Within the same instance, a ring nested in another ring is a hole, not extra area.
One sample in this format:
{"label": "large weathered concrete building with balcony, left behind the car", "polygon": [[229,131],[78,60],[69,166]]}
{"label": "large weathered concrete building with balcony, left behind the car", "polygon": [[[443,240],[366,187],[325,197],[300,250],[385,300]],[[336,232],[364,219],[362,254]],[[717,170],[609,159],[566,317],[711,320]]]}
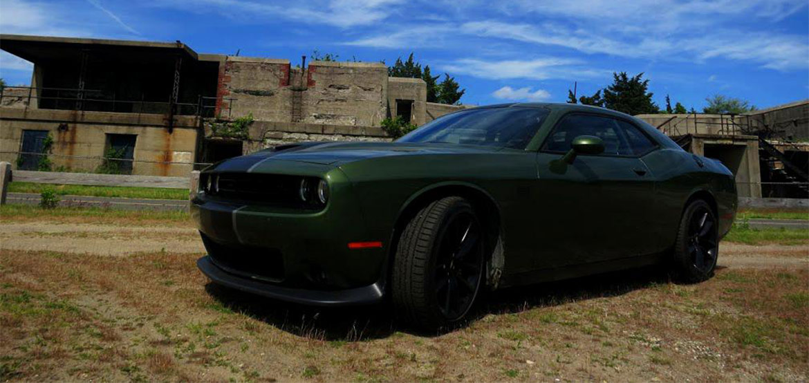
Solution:
{"label": "large weathered concrete building with balcony, left behind the car", "polygon": [[421,79],[380,63],[293,66],[180,41],[0,35],[0,48],[34,64],[31,86],[0,95],[0,161],[24,169],[94,171],[116,154],[124,172],[185,175],[279,143],[388,141],[388,117],[424,124],[462,108],[427,103]]}

